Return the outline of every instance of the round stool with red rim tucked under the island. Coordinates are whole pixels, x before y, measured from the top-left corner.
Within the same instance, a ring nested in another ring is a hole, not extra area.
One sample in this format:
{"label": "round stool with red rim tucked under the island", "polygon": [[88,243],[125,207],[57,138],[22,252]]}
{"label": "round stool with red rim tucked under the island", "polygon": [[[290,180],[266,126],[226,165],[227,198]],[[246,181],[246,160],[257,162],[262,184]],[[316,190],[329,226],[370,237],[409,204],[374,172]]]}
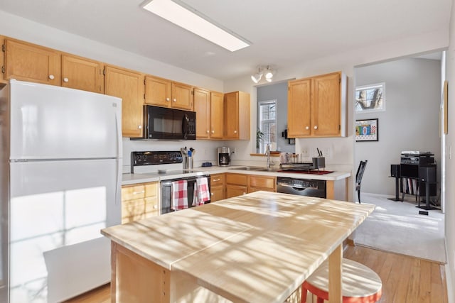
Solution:
{"label": "round stool with red rim tucked under the island", "polygon": [[[342,268],[343,303],[372,303],[380,299],[382,281],[376,272],[344,258]],[[301,303],[306,302],[307,291],[318,297],[317,303],[328,300],[328,261],[322,263],[301,287]]]}

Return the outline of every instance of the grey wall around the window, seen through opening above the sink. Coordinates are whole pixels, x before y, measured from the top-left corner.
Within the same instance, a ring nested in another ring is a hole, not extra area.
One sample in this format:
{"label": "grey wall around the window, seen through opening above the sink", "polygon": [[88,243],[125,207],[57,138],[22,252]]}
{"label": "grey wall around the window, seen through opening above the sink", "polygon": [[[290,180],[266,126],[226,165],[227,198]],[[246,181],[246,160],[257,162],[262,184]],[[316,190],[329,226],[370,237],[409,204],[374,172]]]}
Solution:
{"label": "grey wall around the window, seen through opening above the sink", "polygon": [[[257,101],[277,100],[277,145],[279,151],[294,153],[294,145],[282,137],[282,131],[287,128],[287,82],[269,84],[257,87]],[[257,117],[259,123],[259,115]]]}

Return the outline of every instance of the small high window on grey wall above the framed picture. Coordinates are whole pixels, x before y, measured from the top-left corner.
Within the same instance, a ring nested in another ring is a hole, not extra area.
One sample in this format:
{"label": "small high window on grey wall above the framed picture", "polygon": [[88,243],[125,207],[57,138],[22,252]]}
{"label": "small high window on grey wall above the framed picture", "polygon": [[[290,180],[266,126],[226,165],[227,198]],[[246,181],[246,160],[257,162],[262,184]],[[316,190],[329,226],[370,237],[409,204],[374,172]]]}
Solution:
{"label": "small high window on grey wall above the framed picture", "polygon": [[355,87],[355,111],[385,111],[385,83]]}

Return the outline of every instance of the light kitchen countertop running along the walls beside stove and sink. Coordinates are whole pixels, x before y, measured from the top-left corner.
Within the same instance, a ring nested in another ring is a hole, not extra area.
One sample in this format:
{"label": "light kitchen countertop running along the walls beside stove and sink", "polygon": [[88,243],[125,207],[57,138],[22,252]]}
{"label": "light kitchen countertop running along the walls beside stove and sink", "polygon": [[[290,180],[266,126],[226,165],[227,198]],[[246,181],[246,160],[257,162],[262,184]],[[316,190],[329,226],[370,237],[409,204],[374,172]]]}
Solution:
{"label": "light kitchen countertop running along the walls beside stove and sink", "polygon": [[[246,175],[264,175],[264,176],[273,176],[273,177],[290,177],[295,179],[313,179],[313,180],[326,180],[326,181],[336,181],[343,180],[347,177],[350,177],[350,172],[341,172],[335,171],[326,175],[314,175],[314,174],[301,174],[295,172],[277,172],[277,168],[274,168],[269,171],[259,171],[259,170],[242,170],[241,167],[246,167],[247,165],[231,165],[229,167],[195,167],[191,171],[183,172],[183,170],[169,170],[165,174],[160,174],[158,172],[151,173],[139,173],[139,174],[123,174],[122,175],[122,185],[137,184],[137,183],[146,183],[146,182],[157,182],[170,179],[178,179],[183,177],[193,177],[198,175],[213,175],[220,174],[225,172],[232,172],[237,174],[246,174]],[[236,169],[237,168],[237,169]]]}

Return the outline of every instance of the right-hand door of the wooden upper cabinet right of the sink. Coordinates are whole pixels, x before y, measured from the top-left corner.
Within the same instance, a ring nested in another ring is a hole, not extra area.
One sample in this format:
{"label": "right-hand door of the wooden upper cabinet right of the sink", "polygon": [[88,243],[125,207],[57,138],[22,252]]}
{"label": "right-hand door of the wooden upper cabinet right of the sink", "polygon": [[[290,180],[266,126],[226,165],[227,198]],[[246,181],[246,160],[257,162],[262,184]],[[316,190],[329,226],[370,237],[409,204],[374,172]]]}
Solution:
{"label": "right-hand door of the wooden upper cabinet right of the sink", "polygon": [[341,132],[341,75],[336,72],[314,77],[312,81],[311,132],[314,136],[339,136]]}

